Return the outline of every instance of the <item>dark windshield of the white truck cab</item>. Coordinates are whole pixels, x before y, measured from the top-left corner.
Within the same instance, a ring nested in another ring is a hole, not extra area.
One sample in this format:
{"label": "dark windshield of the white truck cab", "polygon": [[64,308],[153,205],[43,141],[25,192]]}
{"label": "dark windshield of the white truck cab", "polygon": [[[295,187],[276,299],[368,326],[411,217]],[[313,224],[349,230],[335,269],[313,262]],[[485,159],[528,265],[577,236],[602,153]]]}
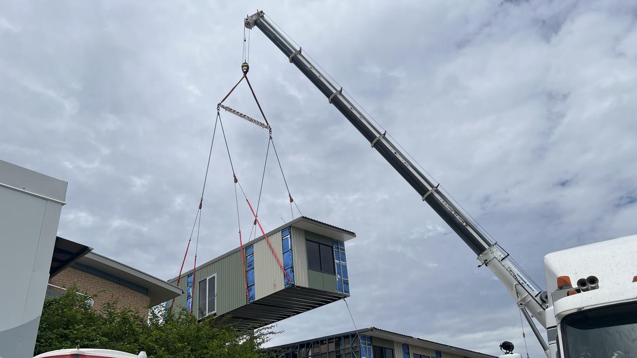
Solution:
{"label": "dark windshield of the white truck cab", "polygon": [[637,303],[568,315],[562,340],[564,358],[637,358]]}

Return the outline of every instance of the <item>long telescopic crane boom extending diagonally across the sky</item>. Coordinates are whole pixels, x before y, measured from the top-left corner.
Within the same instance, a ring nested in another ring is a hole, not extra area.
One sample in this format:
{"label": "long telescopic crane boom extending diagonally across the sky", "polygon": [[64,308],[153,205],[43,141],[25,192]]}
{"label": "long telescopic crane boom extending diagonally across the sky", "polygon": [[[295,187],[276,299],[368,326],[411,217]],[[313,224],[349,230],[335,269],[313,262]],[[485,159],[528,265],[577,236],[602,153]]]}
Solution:
{"label": "long telescopic crane boom extending diagonally across the sky", "polygon": [[268,21],[263,11],[245,18],[245,27],[252,29],[257,27],[261,30],[276,47],[294,64],[310,82],[312,82],[338,111],[340,111],[354,127],[361,132],[366,140],[371,143],[371,147],[376,149],[396,171],[403,176],[413,189],[419,194],[423,201],[426,201],[440,217],[455,231],[458,236],[468,245],[478,259],[489,267],[491,271],[504,283],[513,299],[520,306],[524,306],[531,314],[546,327],[545,295],[540,292],[526,278],[520,269],[515,267],[510,261],[508,254],[485,236],[465,215],[458,210],[441,190],[427,176],[425,176],[398,148],[373,125],[362,111],[352,104],[327,77],[321,73],[303,55],[301,48],[296,48],[290,41],[278,31],[278,29]]}

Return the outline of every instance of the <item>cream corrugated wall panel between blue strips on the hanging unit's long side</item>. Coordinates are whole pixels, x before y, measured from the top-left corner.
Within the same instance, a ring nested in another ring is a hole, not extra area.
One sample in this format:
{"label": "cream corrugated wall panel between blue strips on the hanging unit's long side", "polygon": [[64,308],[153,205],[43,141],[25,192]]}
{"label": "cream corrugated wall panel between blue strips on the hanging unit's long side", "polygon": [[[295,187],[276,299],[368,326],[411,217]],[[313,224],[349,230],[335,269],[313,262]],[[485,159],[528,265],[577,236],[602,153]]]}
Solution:
{"label": "cream corrugated wall panel between blue strips on the hanging unit's long side", "polygon": [[[279,260],[282,260],[283,243],[281,241],[281,231],[269,235],[268,239]],[[260,299],[283,289],[283,271],[266,240],[259,240],[254,243],[254,283],[255,299]]]}

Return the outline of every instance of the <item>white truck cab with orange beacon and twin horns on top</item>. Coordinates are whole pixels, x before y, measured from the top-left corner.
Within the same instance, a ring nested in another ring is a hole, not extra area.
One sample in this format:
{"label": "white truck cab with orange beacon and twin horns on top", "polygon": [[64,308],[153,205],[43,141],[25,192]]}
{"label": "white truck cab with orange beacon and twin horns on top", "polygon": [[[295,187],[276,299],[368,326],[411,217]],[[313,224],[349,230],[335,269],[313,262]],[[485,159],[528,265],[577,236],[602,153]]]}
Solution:
{"label": "white truck cab with orange beacon and twin horns on top", "polygon": [[544,271],[551,357],[637,357],[637,235],[552,252]]}

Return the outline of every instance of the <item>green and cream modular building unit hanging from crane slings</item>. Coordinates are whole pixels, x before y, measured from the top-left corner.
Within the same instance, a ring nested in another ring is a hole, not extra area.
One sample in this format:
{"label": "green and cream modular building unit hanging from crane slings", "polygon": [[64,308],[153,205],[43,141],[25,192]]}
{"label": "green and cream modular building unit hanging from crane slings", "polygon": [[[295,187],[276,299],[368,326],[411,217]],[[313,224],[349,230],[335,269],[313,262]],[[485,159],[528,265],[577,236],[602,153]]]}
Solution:
{"label": "green and cream modular building unit hanging from crane slings", "polygon": [[345,241],[355,233],[299,217],[266,236],[184,273],[173,309],[262,327],[350,296]]}

